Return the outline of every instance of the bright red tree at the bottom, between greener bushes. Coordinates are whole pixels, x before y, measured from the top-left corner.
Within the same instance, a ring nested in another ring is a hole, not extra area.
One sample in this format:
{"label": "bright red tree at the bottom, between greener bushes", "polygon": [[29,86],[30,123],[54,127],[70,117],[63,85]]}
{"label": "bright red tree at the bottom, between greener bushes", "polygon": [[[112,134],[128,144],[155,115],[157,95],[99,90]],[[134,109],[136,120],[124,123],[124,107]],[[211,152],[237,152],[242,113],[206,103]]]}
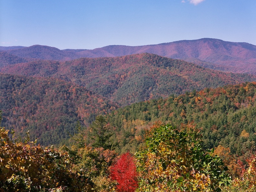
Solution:
{"label": "bright red tree at the bottom, between greener bushes", "polygon": [[111,167],[111,179],[116,180],[119,192],[134,192],[138,187],[136,165],[129,152],[121,155]]}

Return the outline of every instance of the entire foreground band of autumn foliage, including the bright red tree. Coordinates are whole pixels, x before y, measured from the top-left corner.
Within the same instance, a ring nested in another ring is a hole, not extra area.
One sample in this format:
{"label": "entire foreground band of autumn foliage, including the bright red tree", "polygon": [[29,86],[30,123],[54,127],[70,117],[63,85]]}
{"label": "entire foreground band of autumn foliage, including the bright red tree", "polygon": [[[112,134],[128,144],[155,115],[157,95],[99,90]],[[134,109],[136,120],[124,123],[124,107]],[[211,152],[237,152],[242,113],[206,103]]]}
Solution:
{"label": "entire foreground band of autumn foliage, including the bright red tree", "polygon": [[109,149],[87,146],[43,148],[30,142],[29,134],[25,142],[12,142],[7,132],[0,129],[2,192],[255,191],[255,156],[247,165],[240,162],[238,177],[232,178],[230,165],[235,162],[229,151],[203,150],[199,130],[192,124],[177,129],[158,123],[147,131],[145,146],[134,156],[120,157]]}

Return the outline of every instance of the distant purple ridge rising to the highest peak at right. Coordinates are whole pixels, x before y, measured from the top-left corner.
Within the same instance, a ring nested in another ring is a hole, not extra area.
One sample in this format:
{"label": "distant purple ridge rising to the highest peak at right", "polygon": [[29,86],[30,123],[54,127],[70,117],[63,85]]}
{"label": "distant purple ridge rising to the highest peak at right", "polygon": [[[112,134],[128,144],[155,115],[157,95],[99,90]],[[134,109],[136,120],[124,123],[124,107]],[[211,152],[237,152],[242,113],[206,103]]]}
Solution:
{"label": "distant purple ridge rising to the highest peak at right", "polygon": [[[94,56],[91,55],[92,53]],[[78,54],[83,57],[114,57],[135,53],[153,53],[168,58],[182,59],[210,69],[255,73],[255,45],[213,38],[181,40],[134,47],[111,45],[93,50],[84,50]]]}

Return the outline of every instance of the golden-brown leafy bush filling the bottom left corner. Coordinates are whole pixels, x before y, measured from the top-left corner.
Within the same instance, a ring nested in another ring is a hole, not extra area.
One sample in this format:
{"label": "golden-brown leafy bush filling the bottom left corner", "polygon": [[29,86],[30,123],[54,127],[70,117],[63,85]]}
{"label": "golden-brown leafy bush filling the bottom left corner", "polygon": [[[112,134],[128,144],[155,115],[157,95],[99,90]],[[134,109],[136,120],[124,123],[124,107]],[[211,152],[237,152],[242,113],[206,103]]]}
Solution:
{"label": "golden-brown leafy bush filling the bottom left corner", "polygon": [[0,129],[0,191],[92,191],[89,177],[72,169],[67,152],[13,143]]}

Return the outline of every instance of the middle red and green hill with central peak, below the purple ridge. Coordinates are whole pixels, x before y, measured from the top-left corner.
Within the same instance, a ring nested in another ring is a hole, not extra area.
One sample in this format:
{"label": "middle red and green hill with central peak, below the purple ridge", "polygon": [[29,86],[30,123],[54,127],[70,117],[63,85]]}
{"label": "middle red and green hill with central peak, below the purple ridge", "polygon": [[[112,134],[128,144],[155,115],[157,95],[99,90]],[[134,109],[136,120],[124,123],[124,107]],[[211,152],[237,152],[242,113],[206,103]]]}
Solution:
{"label": "middle red and green hill with central peak, below the purple ridge", "polygon": [[36,60],[0,68],[1,72],[66,80],[121,106],[206,87],[255,81],[247,74],[223,73],[154,54],[71,61]]}

